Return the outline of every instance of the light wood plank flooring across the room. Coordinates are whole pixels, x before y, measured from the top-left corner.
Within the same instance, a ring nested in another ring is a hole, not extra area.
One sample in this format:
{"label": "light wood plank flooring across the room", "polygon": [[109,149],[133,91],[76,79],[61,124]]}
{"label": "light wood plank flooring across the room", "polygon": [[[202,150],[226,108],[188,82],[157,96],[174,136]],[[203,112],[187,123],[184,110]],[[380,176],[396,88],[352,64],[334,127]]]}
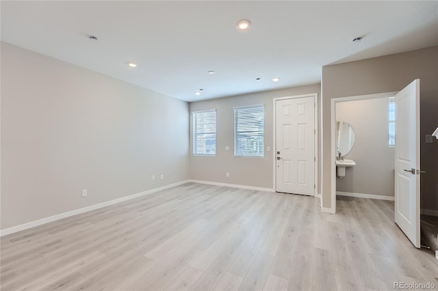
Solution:
{"label": "light wood plank flooring across the room", "polygon": [[1,290],[394,290],[438,260],[394,202],[188,183],[1,238]]}

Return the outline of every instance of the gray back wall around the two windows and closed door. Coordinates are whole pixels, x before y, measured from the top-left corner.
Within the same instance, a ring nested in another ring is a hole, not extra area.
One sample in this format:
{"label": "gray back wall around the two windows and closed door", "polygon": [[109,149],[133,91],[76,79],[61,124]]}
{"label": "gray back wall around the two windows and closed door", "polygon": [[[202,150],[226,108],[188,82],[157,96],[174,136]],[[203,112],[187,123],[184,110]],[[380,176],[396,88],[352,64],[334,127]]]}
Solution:
{"label": "gray back wall around the two windows and closed door", "polygon": [[[192,124],[190,124],[190,178],[194,180],[205,180],[210,182],[239,184],[272,189],[274,184],[272,180],[272,154],[274,151],[274,143],[272,140],[274,118],[272,115],[272,99],[285,96],[318,93],[319,103],[320,88],[320,84],[315,84],[190,103],[190,112],[216,109],[216,156],[193,156]],[[256,104],[265,105],[265,156],[263,158],[234,157],[233,107]],[[320,106],[318,106],[318,108],[320,108]],[[190,119],[192,118],[190,117]],[[320,137],[319,133],[318,137]],[[320,139],[318,138],[318,140]],[[225,146],[229,146],[230,150],[225,151]],[[268,146],[270,146],[271,152],[266,152],[266,147]],[[318,148],[320,147],[318,146]],[[318,154],[318,158],[320,158],[320,154]],[[227,172],[230,173],[229,178],[225,176]],[[319,168],[318,177],[320,176]],[[318,181],[318,187],[319,186],[320,181]],[[320,189],[318,189],[318,193],[320,193]]]}

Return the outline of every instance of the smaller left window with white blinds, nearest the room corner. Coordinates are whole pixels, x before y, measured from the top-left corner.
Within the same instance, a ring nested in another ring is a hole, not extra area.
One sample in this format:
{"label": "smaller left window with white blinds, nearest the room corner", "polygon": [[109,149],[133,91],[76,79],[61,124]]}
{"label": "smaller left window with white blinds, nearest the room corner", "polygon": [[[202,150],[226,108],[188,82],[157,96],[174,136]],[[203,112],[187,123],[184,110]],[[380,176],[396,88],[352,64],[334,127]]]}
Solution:
{"label": "smaller left window with white blinds, nearest the room corner", "polygon": [[216,155],[216,110],[193,112],[193,154]]}

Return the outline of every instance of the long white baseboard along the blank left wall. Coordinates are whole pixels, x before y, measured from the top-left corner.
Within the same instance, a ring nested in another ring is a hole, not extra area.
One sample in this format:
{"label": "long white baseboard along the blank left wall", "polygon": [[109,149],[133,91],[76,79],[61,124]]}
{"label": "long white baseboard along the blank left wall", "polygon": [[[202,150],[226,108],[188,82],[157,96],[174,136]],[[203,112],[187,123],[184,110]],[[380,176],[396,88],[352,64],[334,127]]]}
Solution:
{"label": "long white baseboard along the blank left wall", "polygon": [[94,204],[92,206],[87,206],[87,207],[84,207],[84,208],[79,208],[79,209],[76,209],[76,210],[71,210],[71,211],[68,211],[68,212],[61,213],[61,214],[56,214],[56,215],[53,215],[51,217],[46,217],[44,219],[38,219],[36,221],[31,221],[31,222],[28,222],[28,223],[23,223],[21,225],[16,225],[16,226],[13,226],[13,227],[5,228],[4,230],[0,230],[0,236],[6,236],[8,234],[13,234],[14,232],[20,232],[21,230],[27,230],[27,229],[29,229],[31,227],[36,227],[38,225],[42,225],[42,224],[49,223],[49,222],[52,222],[52,221],[57,221],[57,220],[60,220],[60,219],[64,219],[66,217],[71,217],[71,216],[76,215],[76,214],[81,214],[83,212],[88,212],[88,211],[91,211],[91,210],[103,208],[105,206],[110,206],[110,205],[113,205],[113,204],[124,202],[124,201],[130,200],[130,199],[134,199],[134,198],[137,198],[137,197],[144,196],[144,195],[152,194],[152,193],[155,193],[155,192],[158,192],[158,191],[166,190],[166,189],[169,189],[169,188],[172,188],[172,187],[175,187],[175,186],[179,186],[181,184],[185,184],[187,182],[190,182],[190,181],[189,180],[184,180],[184,181],[181,181],[181,182],[176,182],[176,183],[173,183],[173,184],[168,184],[166,186],[158,187],[158,188],[151,189],[151,190],[148,190],[148,191],[136,193],[136,194],[133,194],[133,195],[128,195],[128,196],[125,196],[125,197],[120,197],[120,198],[113,199],[113,200],[110,200],[110,201],[107,201],[107,202],[102,202],[102,203],[99,203],[99,204]]}

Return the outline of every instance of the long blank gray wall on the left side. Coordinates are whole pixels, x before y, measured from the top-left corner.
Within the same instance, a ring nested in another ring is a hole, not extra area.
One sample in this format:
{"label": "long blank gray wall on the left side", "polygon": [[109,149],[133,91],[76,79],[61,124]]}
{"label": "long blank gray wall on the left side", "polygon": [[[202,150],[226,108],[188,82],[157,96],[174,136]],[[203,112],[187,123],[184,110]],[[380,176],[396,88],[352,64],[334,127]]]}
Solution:
{"label": "long blank gray wall on the left side", "polygon": [[188,116],[187,102],[1,42],[1,229],[187,180]]}

